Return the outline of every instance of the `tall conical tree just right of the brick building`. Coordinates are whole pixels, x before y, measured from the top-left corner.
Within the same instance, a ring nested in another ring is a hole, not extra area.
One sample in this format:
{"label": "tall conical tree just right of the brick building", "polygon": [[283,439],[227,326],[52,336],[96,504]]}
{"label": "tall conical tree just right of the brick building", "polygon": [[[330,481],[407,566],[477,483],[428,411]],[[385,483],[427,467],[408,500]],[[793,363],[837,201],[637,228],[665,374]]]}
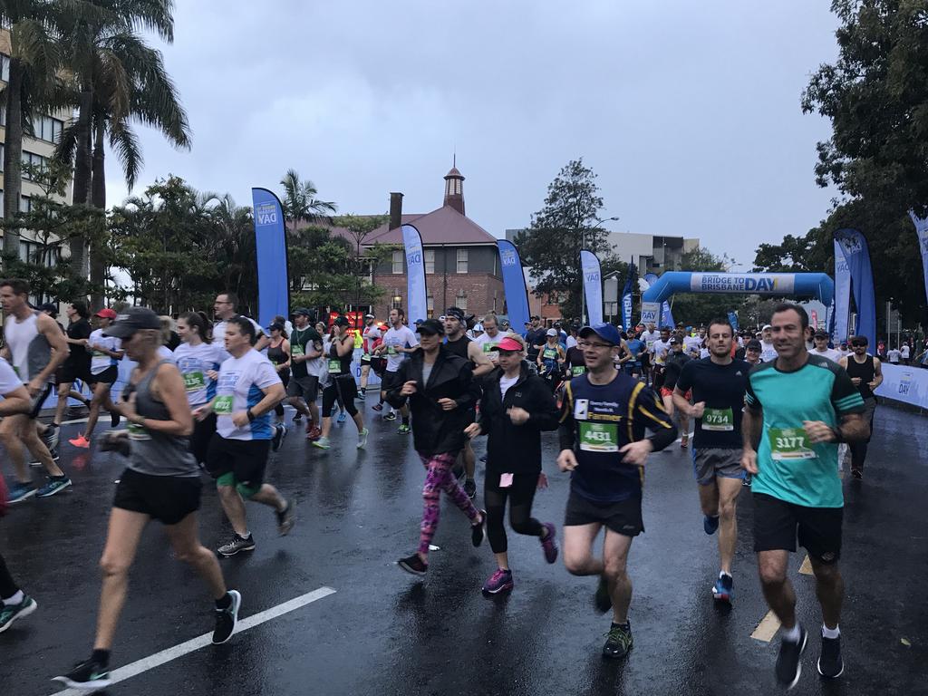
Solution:
{"label": "tall conical tree just right of the brick building", "polygon": [[544,207],[516,236],[522,260],[537,279],[535,295],[562,296],[561,314],[580,315],[580,250],[609,251],[609,232],[601,226],[602,199],[596,174],[583,160],[568,162],[548,185]]}

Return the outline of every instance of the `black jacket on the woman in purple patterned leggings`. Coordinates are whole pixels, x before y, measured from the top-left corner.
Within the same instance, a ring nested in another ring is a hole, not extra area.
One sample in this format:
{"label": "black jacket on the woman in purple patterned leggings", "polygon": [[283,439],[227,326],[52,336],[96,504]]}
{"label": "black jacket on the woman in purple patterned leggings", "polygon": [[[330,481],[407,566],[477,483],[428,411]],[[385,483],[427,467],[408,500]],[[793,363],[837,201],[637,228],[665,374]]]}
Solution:
{"label": "black jacket on the woman in purple patterned leggings", "polygon": [[[464,448],[464,429],[470,425],[471,410],[480,399],[480,387],[473,380],[470,362],[448,353],[444,346],[439,348],[429,382],[424,384],[423,358],[419,348],[403,361],[393,382],[395,388],[387,392],[387,402],[396,408],[406,404],[400,390],[407,381],[415,380],[417,391],[408,400],[416,451],[424,456],[459,452]],[[444,398],[454,399],[458,407],[443,410],[438,400]]]}

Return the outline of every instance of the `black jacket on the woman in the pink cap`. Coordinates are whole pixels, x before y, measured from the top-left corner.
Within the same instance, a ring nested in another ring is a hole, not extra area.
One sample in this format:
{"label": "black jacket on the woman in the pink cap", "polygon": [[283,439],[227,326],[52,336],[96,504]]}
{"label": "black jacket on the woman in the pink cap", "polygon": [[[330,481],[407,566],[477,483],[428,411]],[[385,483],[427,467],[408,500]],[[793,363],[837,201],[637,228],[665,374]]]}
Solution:
{"label": "black jacket on the woman in the pink cap", "polygon": [[[519,380],[499,392],[502,370],[493,373],[480,401],[481,430],[488,435],[486,470],[495,473],[539,473],[541,471],[541,432],[557,430],[560,413],[548,383],[532,374],[522,362]],[[529,412],[528,422],[515,425],[506,413],[511,406]]]}

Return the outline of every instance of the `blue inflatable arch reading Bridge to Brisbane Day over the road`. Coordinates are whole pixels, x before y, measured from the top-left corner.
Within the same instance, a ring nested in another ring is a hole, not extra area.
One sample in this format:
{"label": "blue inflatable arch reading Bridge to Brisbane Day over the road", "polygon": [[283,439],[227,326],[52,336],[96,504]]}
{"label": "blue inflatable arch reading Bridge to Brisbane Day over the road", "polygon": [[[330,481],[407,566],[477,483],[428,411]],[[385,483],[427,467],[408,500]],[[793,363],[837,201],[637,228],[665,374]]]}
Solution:
{"label": "blue inflatable arch reading Bridge to Brisbane Day over the road", "polygon": [[675,292],[731,292],[749,295],[814,297],[826,307],[834,299],[834,281],[824,273],[718,273],[668,271],[641,296],[663,303]]}

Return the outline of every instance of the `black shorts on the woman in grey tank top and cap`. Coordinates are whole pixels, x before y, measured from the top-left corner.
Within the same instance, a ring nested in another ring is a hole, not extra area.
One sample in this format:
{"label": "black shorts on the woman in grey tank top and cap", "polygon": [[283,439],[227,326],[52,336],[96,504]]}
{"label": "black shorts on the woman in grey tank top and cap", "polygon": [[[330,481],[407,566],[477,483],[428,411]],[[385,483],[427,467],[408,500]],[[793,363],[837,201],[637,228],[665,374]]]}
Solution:
{"label": "black shorts on the woman in grey tank top and cap", "polygon": [[152,476],[127,469],[122,472],[113,507],[141,512],[164,524],[176,524],[200,509],[203,483],[191,476]]}

